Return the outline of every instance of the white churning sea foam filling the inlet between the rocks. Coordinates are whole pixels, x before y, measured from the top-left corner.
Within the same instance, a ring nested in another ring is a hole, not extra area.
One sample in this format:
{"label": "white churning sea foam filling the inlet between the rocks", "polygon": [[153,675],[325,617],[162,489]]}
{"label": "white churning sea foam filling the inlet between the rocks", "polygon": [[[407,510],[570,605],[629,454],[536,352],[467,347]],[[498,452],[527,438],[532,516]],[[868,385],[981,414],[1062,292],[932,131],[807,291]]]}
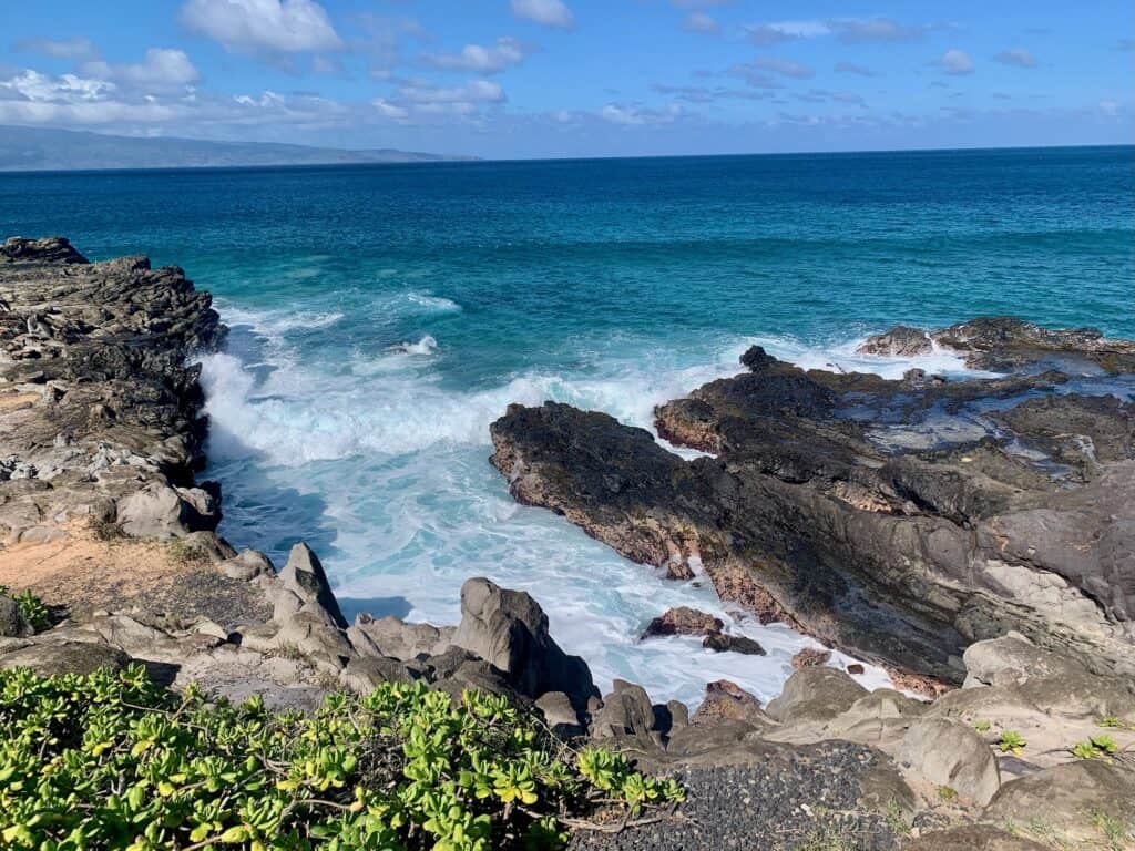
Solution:
{"label": "white churning sea foam filling the inlet between the rocks", "polygon": [[[229,311],[225,318],[232,319]],[[287,319],[271,314],[251,323],[278,334]],[[948,353],[864,357],[855,355],[855,344],[821,349],[753,338],[728,342],[700,363],[651,349],[607,359],[590,371],[528,371],[497,387],[461,390],[444,385],[434,359],[406,356],[431,353],[436,342],[429,335],[379,357],[360,355],[347,373],[335,376],[287,352],[279,353],[277,369],[255,376],[236,357],[216,354],[204,359],[202,376],[213,422],[210,453],[221,465],[226,458],[259,456],[271,487],[296,495],[297,506],[318,497],[319,516],[312,520],[334,528],[325,561],[348,607],[454,623],[462,581],[487,575],[530,590],[548,612],[553,634],[588,660],[602,688],[624,677],[641,682],[656,700],[697,703],[706,682],[724,677],[768,699],[791,673],[792,654],[812,644],[809,639],[729,609],[708,583],[665,581],[562,519],[516,505],[485,463],[488,426],[510,403],[555,399],[649,428],[657,403],[738,372],[738,357],[753,343],[804,366],[839,364],[884,376],[913,365],[964,371]],[[293,498],[249,492],[255,486],[238,475],[225,485],[233,523],[241,522],[245,504]],[[291,515],[278,528],[268,522],[245,528],[259,537],[242,544],[277,557],[303,531]],[[682,604],[716,614],[768,655],[713,654],[688,638],[639,641],[651,617]],[[836,655],[833,664],[847,660]],[[861,681],[888,682],[872,666]]]}

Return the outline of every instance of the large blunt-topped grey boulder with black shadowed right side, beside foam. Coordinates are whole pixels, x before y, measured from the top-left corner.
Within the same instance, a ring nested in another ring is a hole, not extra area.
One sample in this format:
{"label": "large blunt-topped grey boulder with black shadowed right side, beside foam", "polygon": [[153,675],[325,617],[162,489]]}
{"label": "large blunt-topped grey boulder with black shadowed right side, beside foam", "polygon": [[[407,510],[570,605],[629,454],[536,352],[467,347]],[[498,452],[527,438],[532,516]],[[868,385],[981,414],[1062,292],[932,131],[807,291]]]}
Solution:
{"label": "large blunt-topped grey boulder with black shadowed right side, beside foam", "polygon": [[596,693],[587,663],[553,641],[539,604],[487,579],[470,579],[461,587],[461,624],[453,644],[503,671],[528,697],[562,691],[582,710]]}

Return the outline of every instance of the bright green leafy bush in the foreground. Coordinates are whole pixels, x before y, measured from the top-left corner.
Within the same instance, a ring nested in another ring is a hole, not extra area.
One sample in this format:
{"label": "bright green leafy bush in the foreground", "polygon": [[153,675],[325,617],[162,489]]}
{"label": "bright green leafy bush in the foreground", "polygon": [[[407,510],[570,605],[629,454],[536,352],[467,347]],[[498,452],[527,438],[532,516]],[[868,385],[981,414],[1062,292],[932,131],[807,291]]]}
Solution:
{"label": "bright green leafy bush in the foreground", "polygon": [[305,716],[176,696],[137,666],[0,671],[5,849],[553,848],[596,807],[682,797],[504,698],[387,683]]}

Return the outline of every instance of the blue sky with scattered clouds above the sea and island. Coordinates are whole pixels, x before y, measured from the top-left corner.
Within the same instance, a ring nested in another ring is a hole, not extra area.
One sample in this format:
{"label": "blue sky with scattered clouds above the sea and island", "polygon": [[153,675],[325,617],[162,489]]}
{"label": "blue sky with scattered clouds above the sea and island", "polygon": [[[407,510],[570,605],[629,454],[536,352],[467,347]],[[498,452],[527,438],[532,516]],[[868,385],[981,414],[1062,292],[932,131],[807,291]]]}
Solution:
{"label": "blue sky with scattered clouds above the sea and island", "polygon": [[486,158],[1135,142],[1130,0],[3,3],[0,124]]}

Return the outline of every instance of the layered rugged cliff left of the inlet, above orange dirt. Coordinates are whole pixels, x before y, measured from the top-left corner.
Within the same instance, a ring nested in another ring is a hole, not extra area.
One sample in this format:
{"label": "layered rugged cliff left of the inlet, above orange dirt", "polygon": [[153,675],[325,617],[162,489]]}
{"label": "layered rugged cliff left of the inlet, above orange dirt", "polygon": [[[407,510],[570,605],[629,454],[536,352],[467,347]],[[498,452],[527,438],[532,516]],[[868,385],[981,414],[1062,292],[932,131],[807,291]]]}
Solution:
{"label": "layered rugged cliff left of the inlet, above orange dirt", "polygon": [[224,339],[210,303],[145,258],[0,245],[0,544],[75,520],[142,537],[216,529],[216,494],[193,480],[205,423],[200,368],[186,365]]}

